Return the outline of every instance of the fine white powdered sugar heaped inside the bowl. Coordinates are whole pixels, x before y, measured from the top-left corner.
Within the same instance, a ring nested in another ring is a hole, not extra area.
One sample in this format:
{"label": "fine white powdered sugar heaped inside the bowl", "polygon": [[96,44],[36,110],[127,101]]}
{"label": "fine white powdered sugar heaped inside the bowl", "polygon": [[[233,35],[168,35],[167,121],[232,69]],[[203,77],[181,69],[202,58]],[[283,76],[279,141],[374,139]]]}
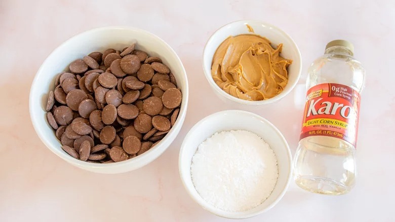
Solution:
{"label": "fine white powdered sugar heaped inside the bowl", "polygon": [[215,133],[192,158],[192,182],[201,197],[227,211],[252,209],[267,199],[278,178],[277,158],[246,130]]}

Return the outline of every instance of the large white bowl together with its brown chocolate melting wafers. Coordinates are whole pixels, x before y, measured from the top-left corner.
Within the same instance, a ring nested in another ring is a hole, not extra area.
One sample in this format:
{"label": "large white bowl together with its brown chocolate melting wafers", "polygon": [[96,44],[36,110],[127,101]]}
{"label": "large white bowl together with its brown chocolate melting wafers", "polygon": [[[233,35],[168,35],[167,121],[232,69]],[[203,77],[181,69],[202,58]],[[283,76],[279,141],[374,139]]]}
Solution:
{"label": "large white bowl together with its brown chocolate melting wafers", "polygon": [[174,50],[132,27],[102,27],[56,48],[33,80],[39,138],[68,163],[121,173],[159,157],[185,119],[188,82]]}

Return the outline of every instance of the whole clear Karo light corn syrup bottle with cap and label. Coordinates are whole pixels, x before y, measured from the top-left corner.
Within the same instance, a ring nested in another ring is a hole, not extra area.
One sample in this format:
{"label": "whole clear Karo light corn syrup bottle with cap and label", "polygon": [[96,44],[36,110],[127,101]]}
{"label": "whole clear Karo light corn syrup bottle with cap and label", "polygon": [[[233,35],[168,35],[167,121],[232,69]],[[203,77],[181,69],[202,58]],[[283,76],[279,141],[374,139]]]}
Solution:
{"label": "whole clear Karo light corn syrup bottle with cap and label", "polygon": [[308,69],[307,96],[295,182],[304,190],[328,195],[349,192],[355,184],[360,93],[365,69],[353,46],[335,40]]}

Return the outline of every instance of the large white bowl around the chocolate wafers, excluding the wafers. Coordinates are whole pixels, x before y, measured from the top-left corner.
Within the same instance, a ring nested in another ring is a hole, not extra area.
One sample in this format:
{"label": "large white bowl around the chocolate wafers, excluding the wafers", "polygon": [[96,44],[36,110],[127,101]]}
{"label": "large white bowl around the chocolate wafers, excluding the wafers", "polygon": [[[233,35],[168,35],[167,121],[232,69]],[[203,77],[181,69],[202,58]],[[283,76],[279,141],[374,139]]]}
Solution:
{"label": "large white bowl around the chocolate wafers, excluding the wafers", "polygon": [[[152,149],[127,161],[111,164],[87,163],[72,158],[61,149],[53,129],[46,120],[46,101],[50,90],[54,89],[56,75],[67,69],[77,58],[83,58],[94,51],[103,52],[108,48],[122,50],[137,42],[137,49],[150,56],[159,56],[170,67],[178,87],[182,91],[182,103],[176,124],[164,139]],[[57,156],[68,163],[85,170],[98,173],[121,173],[140,168],[159,157],[176,138],[185,119],[188,103],[188,81],[180,58],[174,50],[158,36],[133,27],[102,27],[73,36],[56,48],[38,69],[30,89],[29,111],[33,127],[44,144]]]}

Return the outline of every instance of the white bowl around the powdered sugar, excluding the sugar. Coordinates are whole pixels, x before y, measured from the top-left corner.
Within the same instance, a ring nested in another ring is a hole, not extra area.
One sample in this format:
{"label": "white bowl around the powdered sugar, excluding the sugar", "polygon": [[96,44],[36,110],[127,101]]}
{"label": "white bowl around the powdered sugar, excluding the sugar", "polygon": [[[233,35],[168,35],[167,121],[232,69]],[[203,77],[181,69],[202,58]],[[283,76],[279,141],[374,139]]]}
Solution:
{"label": "white bowl around the powdered sugar, excluding the sugar", "polygon": [[[279,177],[273,192],[262,204],[247,211],[225,211],[207,203],[196,191],[191,178],[192,157],[198,146],[214,133],[228,130],[248,130],[257,134],[270,145],[277,156]],[[292,175],[291,151],[281,132],[266,119],[242,110],[221,111],[196,123],[182,142],[178,161],[182,183],[192,199],[211,213],[233,219],[256,216],[272,208],[284,196]]]}

